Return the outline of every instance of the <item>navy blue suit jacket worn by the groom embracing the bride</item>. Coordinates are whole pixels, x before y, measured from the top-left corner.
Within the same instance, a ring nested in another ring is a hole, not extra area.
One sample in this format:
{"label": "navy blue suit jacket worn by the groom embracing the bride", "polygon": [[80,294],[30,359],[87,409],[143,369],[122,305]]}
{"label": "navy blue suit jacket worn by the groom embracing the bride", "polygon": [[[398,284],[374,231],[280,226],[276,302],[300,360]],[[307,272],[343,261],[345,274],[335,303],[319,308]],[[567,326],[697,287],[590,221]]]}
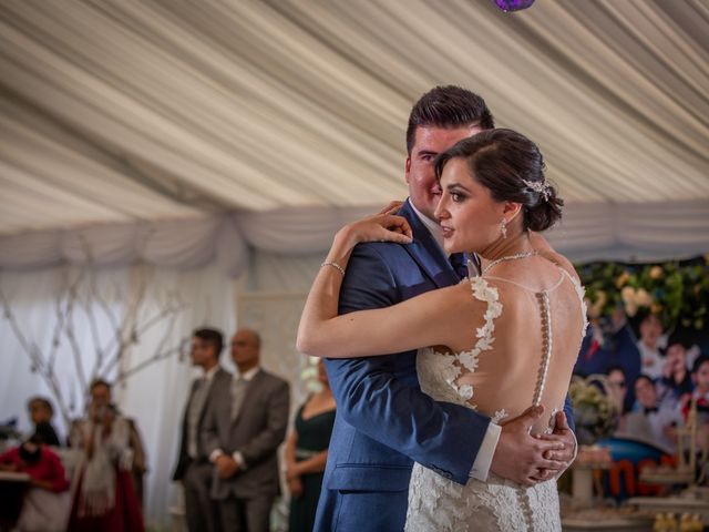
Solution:
{"label": "navy blue suit jacket worn by the groom embracing the bride", "polygon": [[[340,314],[388,307],[460,282],[409,202],[399,214],[411,224],[413,243],[358,245],[340,291]],[[415,355],[325,361],[337,417],[317,532],[402,530],[413,460],[455,482],[467,481],[490,419],[424,395]]]}

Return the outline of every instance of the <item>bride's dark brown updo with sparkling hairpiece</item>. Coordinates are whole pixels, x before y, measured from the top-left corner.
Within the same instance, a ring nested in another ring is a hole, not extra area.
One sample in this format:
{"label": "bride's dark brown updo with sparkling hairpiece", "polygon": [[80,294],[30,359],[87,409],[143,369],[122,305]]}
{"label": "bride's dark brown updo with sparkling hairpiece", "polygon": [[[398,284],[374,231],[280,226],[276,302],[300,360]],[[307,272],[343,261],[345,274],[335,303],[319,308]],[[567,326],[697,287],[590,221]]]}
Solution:
{"label": "bride's dark brown updo with sparkling hairpiece", "polygon": [[[486,130],[439,154],[435,175],[452,158],[465,158],[472,177],[490,188],[496,202],[522,204],[523,229],[548,229],[562,217],[564,201],[544,178],[542,152],[512,130]],[[526,181],[526,183],[525,183]]]}

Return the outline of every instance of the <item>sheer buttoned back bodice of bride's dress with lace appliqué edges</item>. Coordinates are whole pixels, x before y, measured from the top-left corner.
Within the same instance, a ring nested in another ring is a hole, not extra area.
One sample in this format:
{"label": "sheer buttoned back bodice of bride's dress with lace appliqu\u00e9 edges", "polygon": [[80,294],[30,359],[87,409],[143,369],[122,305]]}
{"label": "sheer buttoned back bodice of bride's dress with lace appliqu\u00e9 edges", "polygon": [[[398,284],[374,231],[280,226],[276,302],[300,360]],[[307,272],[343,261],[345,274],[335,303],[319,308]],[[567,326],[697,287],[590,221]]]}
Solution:
{"label": "sheer buttoned back bodice of bride's dress with lace appliqu\u00e9 edges", "polygon": [[485,311],[471,324],[474,346],[462,352],[419,352],[421,388],[436,400],[458,402],[504,423],[532,405],[545,412],[533,433],[549,428],[563,409],[586,327],[583,289],[562,267],[553,283],[533,288],[483,276],[465,279]]}

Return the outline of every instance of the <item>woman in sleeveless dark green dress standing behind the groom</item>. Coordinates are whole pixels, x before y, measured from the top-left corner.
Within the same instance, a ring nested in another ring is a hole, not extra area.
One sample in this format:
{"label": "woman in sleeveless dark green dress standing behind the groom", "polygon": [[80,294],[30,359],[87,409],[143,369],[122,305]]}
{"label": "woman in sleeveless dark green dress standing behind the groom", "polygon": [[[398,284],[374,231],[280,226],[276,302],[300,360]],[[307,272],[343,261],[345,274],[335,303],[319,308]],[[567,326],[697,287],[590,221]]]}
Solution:
{"label": "woman in sleeveless dark green dress standing behind the groom", "polygon": [[322,383],[322,390],[308,397],[298,409],[295,429],[286,442],[290,532],[312,531],[335,423],[335,398],[321,360],[318,364],[318,380]]}

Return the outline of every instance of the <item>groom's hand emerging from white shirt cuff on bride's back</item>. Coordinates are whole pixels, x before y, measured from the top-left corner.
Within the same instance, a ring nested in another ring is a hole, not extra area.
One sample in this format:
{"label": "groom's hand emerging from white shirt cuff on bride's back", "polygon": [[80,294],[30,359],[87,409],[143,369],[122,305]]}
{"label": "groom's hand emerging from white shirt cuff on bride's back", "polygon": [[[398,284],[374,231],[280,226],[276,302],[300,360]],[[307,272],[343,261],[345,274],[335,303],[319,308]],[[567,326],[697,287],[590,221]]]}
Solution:
{"label": "groom's hand emerging from white shirt cuff on bride's back", "polygon": [[[493,473],[523,485],[534,485],[544,480],[540,479],[540,470],[548,470],[546,478],[552,478],[566,469],[566,462],[554,459],[554,454],[567,449],[565,440],[561,437],[542,439],[530,434],[530,427],[543,412],[544,407],[531,407],[502,427],[490,467]],[[548,453],[552,453],[551,460]]]}

